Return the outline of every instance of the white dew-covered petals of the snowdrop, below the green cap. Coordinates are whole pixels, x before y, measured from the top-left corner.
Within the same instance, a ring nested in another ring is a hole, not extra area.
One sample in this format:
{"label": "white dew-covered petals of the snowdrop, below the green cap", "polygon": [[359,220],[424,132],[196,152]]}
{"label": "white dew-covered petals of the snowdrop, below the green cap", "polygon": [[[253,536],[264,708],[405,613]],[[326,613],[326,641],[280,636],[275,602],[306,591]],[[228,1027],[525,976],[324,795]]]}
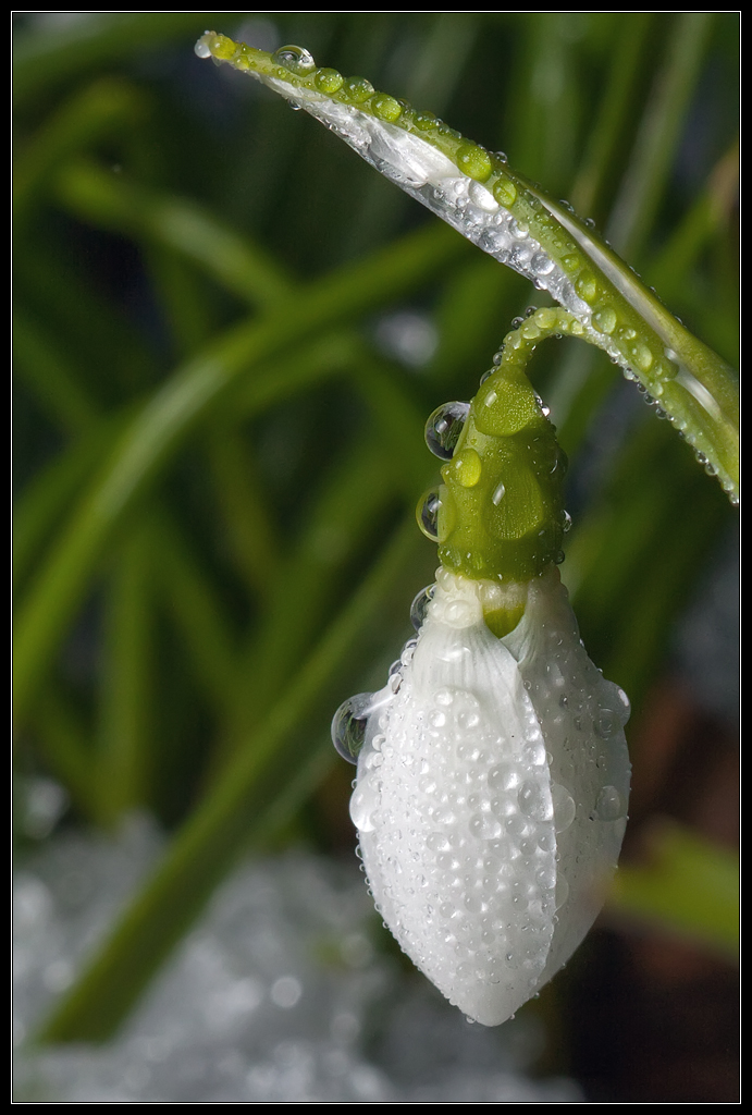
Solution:
{"label": "white dew-covered petals of the snowdrop, below the green cap", "polygon": [[625,826],[628,706],[587,658],[555,570],[501,640],[484,591],[440,572],[399,686],[373,698],[351,814],[404,951],[494,1026],[600,906]]}

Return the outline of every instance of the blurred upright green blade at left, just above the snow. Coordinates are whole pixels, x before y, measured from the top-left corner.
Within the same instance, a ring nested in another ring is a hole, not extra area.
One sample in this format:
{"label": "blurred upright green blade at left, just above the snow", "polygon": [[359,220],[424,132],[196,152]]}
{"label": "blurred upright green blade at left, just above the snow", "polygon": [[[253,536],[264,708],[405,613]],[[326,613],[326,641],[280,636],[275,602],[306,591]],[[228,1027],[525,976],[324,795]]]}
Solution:
{"label": "blurred upright green blade at left, just above the snow", "polygon": [[149,801],[155,648],[148,525],[141,518],[123,540],[107,584],[97,725],[97,809],[107,826]]}

